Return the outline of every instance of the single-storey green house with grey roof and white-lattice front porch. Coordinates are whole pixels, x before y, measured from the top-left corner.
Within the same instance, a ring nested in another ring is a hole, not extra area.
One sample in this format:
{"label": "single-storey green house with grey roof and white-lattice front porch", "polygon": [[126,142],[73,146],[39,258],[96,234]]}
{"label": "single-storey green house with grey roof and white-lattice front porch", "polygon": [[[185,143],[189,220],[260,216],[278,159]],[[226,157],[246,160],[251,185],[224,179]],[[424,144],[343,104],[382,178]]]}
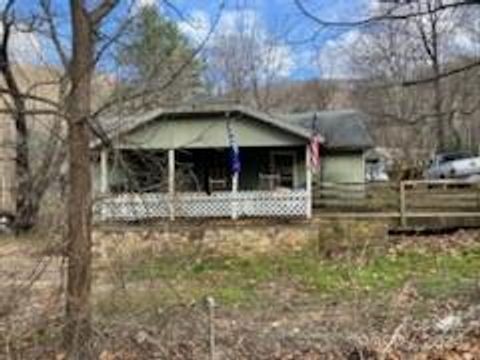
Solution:
{"label": "single-storey green house with grey roof and white-lattice front porch", "polygon": [[[101,195],[95,214],[103,220],[310,217],[316,176],[309,125],[318,126],[323,144],[318,181],[363,183],[371,138],[354,114],[272,116],[210,104],[110,120],[110,146],[93,145],[94,190]],[[231,169],[234,145],[239,172]]]}

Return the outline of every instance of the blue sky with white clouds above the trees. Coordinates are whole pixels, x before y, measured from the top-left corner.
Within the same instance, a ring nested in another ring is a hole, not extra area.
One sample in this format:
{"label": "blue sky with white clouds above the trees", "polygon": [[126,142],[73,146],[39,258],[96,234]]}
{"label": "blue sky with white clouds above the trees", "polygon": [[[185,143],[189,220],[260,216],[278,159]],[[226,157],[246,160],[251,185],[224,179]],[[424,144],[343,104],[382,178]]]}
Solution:
{"label": "blue sky with white clouds above the trees", "polygon": [[[65,0],[56,1],[56,11],[68,16]],[[100,0],[89,0],[94,6]],[[301,14],[294,0],[122,0],[133,1],[134,11],[143,6],[157,6],[175,21],[192,44],[201,43],[213,25],[215,38],[238,30],[239,24],[253,29],[255,36],[271,47],[268,61],[275,65],[282,77],[290,79],[351,78],[348,50],[360,38],[358,28],[322,28]],[[375,11],[378,0],[302,0],[312,13],[327,21],[355,21]],[[0,0],[0,4],[5,0]],[[22,10],[29,11],[33,2],[18,0]],[[68,24],[68,21],[64,21]],[[115,20],[112,21],[115,23]],[[63,29],[68,39],[68,29]],[[0,29],[1,30],[1,29]],[[315,35],[315,36],[314,36]],[[468,39],[461,37],[466,47]],[[14,36],[14,52],[21,58],[32,58],[34,51],[44,51],[41,40],[30,34]],[[44,56],[42,54],[42,56]]]}

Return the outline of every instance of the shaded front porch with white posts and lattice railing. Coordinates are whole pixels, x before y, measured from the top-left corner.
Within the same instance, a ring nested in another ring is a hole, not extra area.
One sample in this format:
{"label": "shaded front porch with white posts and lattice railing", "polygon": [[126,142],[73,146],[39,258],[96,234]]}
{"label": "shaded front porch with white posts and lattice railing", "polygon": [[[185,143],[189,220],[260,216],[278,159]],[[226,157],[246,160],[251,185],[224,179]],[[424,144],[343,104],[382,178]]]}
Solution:
{"label": "shaded front porch with white posts and lattice railing", "polygon": [[98,221],[311,217],[309,147],[245,147],[231,174],[228,148],[103,149]]}

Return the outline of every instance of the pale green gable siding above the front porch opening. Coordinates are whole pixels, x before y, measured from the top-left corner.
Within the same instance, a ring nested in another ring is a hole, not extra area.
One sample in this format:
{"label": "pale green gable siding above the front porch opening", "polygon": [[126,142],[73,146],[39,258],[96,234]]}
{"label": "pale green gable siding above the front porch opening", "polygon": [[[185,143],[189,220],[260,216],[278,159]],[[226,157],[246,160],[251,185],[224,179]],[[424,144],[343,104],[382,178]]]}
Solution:
{"label": "pale green gable siding above the front porch opening", "polygon": [[[308,140],[248,118],[232,119],[239,146],[296,146]],[[228,147],[226,119],[163,119],[126,134],[118,144],[123,148],[205,149]]]}

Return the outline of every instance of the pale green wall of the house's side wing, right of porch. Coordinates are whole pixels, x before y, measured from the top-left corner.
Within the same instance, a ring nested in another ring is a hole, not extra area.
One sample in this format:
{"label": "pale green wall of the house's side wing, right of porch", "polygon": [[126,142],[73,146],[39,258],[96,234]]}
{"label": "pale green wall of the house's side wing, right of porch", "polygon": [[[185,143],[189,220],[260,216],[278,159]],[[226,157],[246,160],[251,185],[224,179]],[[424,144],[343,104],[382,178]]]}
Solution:
{"label": "pale green wall of the house's side wing, right of porch", "polygon": [[329,152],[322,158],[323,182],[363,183],[365,182],[365,161],[363,152]]}

